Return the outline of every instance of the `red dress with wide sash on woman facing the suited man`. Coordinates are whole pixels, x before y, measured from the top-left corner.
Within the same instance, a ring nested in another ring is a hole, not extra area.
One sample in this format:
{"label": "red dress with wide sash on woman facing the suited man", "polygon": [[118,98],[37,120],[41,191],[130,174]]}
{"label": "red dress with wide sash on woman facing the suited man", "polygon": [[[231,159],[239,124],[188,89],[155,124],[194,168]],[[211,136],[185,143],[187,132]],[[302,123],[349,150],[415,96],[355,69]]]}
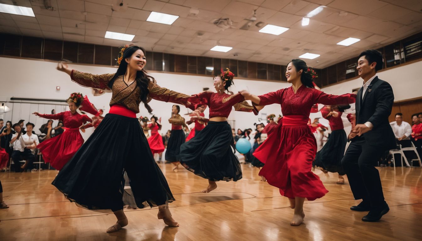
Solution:
{"label": "red dress with wide sash on woman facing the suited man", "polygon": [[354,103],[356,95],[327,95],[302,85],[296,94],[289,87],[259,97],[260,106],[277,103],[283,113],[282,125],[277,125],[277,129],[254,152],[258,160],[265,160],[259,175],[288,198],[321,198],[328,191],[311,171],[317,152],[317,141],[307,125],[311,107],[315,103]]}

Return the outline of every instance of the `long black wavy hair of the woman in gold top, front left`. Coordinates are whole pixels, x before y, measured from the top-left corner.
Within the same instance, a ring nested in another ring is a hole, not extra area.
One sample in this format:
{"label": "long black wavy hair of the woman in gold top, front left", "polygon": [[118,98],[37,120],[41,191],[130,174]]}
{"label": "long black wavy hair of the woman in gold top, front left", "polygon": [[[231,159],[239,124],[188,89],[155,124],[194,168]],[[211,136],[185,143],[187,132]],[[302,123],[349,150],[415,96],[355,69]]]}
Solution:
{"label": "long black wavy hair of the woman in gold top, front left", "polygon": [[[110,89],[111,87],[113,87],[114,81],[117,79],[117,77],[124,75],[126,73],[126,69],[127,69],[126,59],[130,58],[132,54],[135,53],[135,51],[137,51],[138,49],[141,49],[144,55],[146,54],[145,49],[139,46],[130,46],[124,50],[123,58],[122,58],[122,61],[120,62],[119,68],[117,69],[113,78],[111,78],[111,81],[108,82],[108,87]],[[136,85],[141,90],[141,95],[140,95],[141,101],[143,102],[143,105],[148,110],[148,112],[151,113],[152,112],[151,106],[149,106],[147,103],[147,98],[149,94],[148,84],[149,84],[149,81],[152,81],[153,83],[156,83],[156,81],[154,77],[149,76],[144,69],[136,72],[135,81],[136,81]]]}

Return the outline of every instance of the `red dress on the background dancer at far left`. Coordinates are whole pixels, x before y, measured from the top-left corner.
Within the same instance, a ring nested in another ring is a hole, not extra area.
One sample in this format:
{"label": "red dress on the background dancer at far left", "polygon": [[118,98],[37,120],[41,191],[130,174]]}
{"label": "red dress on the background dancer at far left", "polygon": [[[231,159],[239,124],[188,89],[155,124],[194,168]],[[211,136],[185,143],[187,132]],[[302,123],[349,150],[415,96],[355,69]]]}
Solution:
{"label": "red dress on the background dancer at far left", "polygon": [[60,171],[84,144],[79,127],[86,122],[92,122],[92,119],[78,112],[72,114],[70,111],[58,114],[38,114],[38,116],[46,119],[59,119],[65,126],[65,131],[61,135],[43,141],[37,146],[43,153],[44,161],[50,162],[52,167]]}

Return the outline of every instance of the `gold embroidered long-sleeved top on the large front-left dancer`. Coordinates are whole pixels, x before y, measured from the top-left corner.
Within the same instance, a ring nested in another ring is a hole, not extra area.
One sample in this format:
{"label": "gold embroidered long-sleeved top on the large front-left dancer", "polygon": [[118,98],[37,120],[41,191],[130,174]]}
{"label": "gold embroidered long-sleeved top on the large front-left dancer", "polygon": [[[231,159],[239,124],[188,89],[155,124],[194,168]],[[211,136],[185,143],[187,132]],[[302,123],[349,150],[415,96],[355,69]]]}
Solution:
{"label": "gold embroidered long-sleeved top on the large front-left dancer", "polygon": [[[75,81],[81,86],[96,89],[108,89],[108,82],[111,81],[113,76],[114,74],[95,75],[79,72],[77,70],[72,70],[70,73],[72,81]],[[162,88],[152,81],[149,81],[148,90],[148,102],[152,98],[155,100],[181,104],[192,109],[194,109],[193,103],[199,103],[199,100],[196,97]],[[133,81],[131,84],[127,84],[124,82],[123,76],[119,76],[114,81],[111,91],[113,92],[113,95],[111,97],[110,106],[119,104],[135,113],[139,113],[141,90],[137,86],[136,81]]]}

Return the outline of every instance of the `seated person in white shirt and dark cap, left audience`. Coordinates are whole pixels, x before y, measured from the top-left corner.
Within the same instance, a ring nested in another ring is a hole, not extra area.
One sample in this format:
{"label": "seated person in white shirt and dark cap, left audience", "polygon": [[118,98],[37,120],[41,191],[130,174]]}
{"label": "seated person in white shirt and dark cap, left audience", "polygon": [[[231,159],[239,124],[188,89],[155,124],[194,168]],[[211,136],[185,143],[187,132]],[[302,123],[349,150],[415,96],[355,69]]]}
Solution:
{"label": "seated person in white shirt and dark cap, left audience", "polygon": [[36,154],[35,151],[37,150],[37,145],[40,144],[38,135],[32,133],[34,126],[35,125],[31,122],[28,122],[26,124],[27,133],[22,135],[22,138],[19,139],[24,149],[22,157],[25,160],[25,163],[21,166],[24,170],[32,169],[32,162],[34,162]]}

